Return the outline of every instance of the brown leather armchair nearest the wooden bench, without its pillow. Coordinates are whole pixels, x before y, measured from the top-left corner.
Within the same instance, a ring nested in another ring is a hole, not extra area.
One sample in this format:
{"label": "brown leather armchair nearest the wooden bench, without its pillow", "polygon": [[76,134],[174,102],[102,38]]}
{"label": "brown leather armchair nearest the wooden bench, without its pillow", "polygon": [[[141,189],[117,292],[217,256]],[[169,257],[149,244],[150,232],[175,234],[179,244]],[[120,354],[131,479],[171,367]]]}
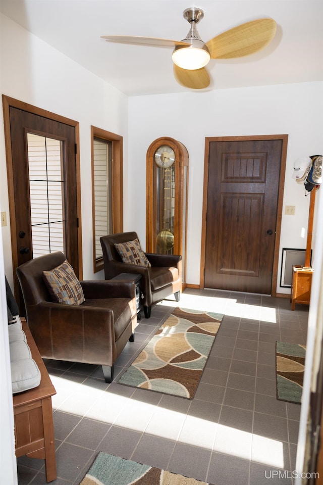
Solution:
{"label": "brown leather armchair nearest the wooden bench, without its pillow", "polygon": [[133,281],[80,281],[81,305],[53,303],[43,280],[66,260],[61,252],[32,259],[16,269],[26,319],[44,358],[102,365],[106,382],[137,324]]}

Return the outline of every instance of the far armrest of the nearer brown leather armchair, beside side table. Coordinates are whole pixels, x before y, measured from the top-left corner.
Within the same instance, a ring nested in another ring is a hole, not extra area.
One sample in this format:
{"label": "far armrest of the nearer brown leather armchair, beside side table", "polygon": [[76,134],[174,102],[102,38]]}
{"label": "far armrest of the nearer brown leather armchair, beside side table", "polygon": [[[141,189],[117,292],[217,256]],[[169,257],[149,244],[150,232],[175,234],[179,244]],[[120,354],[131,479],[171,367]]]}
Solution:
{"label": "far armrest of the nearer brown leather armchair, beside side table", "polygon": [[[123,280],[94,280],[80,281],[84,298],[136,298],[136,285],[134,281]],[[86,302],[85,302],[86,305]]]}

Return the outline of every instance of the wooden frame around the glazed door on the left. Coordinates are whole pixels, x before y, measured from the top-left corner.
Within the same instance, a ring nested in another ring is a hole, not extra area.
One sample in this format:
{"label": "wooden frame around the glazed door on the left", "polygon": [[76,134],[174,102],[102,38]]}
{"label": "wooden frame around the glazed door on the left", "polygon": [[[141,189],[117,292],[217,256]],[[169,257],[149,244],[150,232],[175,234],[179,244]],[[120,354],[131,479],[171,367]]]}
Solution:
{"label": "wooden frame around the glazed door on the left", "polygon": [[[16,240],[16,218],[15,218],[15,200],[14,200],[14,178],[13,178],[13,160],[11,151],[11,128],[10,128],[10,108],[17,108],[23,111],[27,111],[34,115],[39,115],[43,118],[48,118],[59,123],[64,123],[75,128],[75,143],[77,147],[80,146],[80,130],[79,122],[66,118],[64,116],[51,113],[50,111],[37,108],[36,106],[29,105],[23,101],[15,100],[5,94],[2,95],[3,111],[4,111],[4,126],[5,126],[5,146],[6,146],[6,160],[7,160],[7,178],[8,178],[8,195],[9,195],[9,214],[10,214],[10,232],[11,232],[11,248],[12,248],[12,264],[13,264],[13,278],[15,295],[19,292],[19,283],[15,275],[14,268],[18,266],[18,250],[17,245],[13,245],[13,241]],[[78,274],[79,279],[83,278],[83,259],[82,259],[82,221],[81,221],[81,177],[80,177],[80,151],[77,150],[76,157],[76,193],[77,193],[77,214],[79,219],[77,229],[78,239]]]}

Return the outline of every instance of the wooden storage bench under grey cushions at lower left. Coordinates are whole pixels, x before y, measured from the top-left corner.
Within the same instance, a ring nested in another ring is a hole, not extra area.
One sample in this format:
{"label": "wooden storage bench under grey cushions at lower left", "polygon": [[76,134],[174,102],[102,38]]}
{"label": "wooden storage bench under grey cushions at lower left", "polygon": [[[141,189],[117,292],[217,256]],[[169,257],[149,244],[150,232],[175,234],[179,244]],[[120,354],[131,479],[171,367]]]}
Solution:
{"label": "wooden storage bench under grey cushions at lower left", "polygon": [[21,321],[32,358],[41,372],[41,381],[34,389],[13,396],[16,456],[44,459],[46,479],[52,481],[57,477],[51,406],[51,396],[56,394],[56,390],[26,320],[22,318]]}

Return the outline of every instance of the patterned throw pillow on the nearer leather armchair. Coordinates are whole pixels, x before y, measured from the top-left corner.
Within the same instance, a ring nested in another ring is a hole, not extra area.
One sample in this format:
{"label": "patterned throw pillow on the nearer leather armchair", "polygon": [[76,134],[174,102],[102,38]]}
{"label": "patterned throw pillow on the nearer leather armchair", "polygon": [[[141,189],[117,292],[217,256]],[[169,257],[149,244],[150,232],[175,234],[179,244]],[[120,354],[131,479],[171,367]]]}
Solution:
{"label": "patterned throw pillow on the nearer leather armchair", "polygon": [[80,305],[85,301],[82,286],[67,260],[51,271],[43,271],[42,274],[54,302]]}

